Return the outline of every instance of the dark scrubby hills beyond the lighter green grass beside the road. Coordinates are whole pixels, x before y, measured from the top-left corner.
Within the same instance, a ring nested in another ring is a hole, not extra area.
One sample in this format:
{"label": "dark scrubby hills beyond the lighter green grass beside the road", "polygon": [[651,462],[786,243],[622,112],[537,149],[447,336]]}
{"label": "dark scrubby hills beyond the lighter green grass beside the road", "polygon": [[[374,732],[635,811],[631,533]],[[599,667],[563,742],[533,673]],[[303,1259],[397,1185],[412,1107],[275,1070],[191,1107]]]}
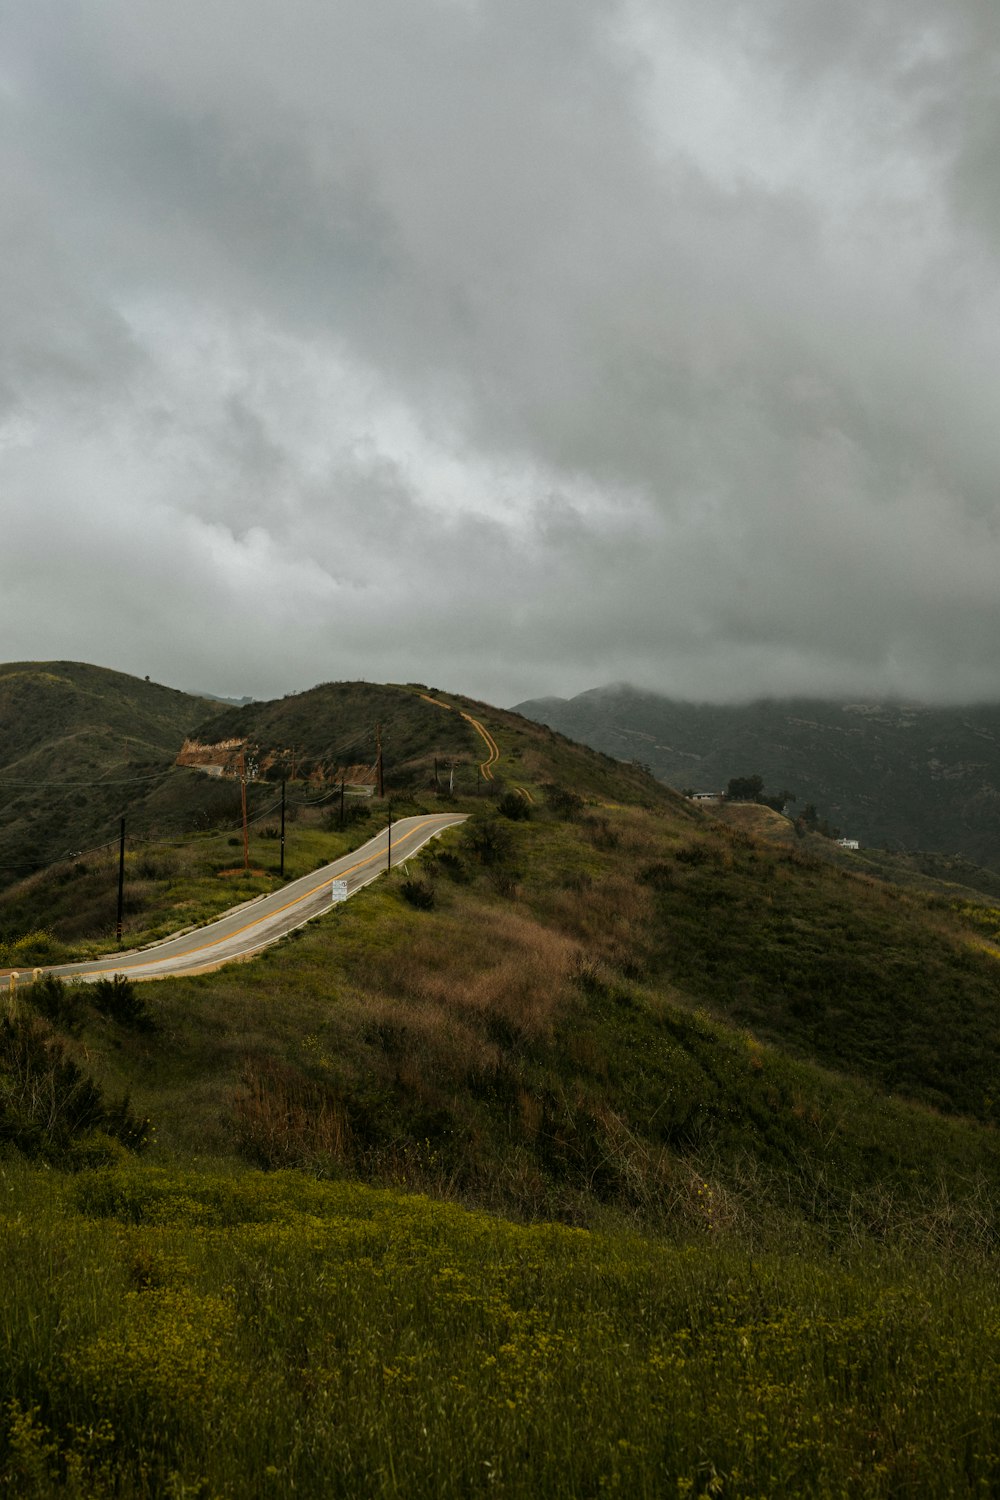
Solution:
{"label": "dark scrubby hills beyond the lighter green grass beside the road", "polygon": [[[78,662],[0,666],[0,890],[60,861],[72,868],[99,856],[117,840],[123,814],[130,848],[232,830],[237,758],[228,774],[205,776],[183,764],[192,742],[246,747],[252,816],[273,801],[268,780],[322,784],[360,762],[373,782],[379,726],[390,789],[432,782],[439,762],[439,776],[474,790],[486,752],[462,718],[475,705],[454,702],[448,712],[426,688],[328,682],[274,702],[223,706]],[[537,728],[532,736],[540,738]]]}

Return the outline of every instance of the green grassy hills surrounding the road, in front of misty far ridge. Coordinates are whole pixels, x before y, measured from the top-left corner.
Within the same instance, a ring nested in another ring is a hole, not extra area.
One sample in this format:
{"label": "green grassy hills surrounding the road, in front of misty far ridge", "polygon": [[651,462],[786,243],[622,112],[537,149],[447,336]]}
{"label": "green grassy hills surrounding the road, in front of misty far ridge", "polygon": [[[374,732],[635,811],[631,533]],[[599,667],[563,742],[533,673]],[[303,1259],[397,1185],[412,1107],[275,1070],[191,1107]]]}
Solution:
{"label": "green grassy hills surrounding the road, in front of misty far ridge", "polygon": [[15,663],[0,723],[4,970],[463,814],[246,963],[4,981],[12,1494],[997,1488],[988,872],[426,684]]}

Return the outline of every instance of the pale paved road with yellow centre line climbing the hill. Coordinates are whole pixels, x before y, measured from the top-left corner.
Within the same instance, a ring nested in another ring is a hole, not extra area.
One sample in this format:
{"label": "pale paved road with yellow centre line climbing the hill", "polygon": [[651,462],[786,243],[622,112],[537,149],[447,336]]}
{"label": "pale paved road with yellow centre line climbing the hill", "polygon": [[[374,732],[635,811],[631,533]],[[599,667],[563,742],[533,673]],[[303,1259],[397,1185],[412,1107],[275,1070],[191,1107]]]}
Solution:
{"label": "pale paved road with yellow centre line climbing the hill", "polygon": [[[400,818],[393,824],[393,868],[409,860],[418,849],[442,832],[465,820],[465,813],[432,813],[424,818]],[[94,981],[108,974],[124,974],[129,980],[166,980],[178,974],[207,974],[249,958],[301,927],[312,916],[330,909],[331,882],[346,880],[348,896],[375,880],[388,867],[388,830],[369,838],[354,854],[334,860],[333,864],[313,870],[280,891],[258,896],[253,902],[235,906],[225,916],[196,927],[178,938],[166,938],[133,952],[118,952],[88,963],[60,963],[42,969],[42,974],[58,975],[60,980]],[[18,972],[15,984],[30,984],[34,970]],[[6,988],[9,972],[0,975]]]}

